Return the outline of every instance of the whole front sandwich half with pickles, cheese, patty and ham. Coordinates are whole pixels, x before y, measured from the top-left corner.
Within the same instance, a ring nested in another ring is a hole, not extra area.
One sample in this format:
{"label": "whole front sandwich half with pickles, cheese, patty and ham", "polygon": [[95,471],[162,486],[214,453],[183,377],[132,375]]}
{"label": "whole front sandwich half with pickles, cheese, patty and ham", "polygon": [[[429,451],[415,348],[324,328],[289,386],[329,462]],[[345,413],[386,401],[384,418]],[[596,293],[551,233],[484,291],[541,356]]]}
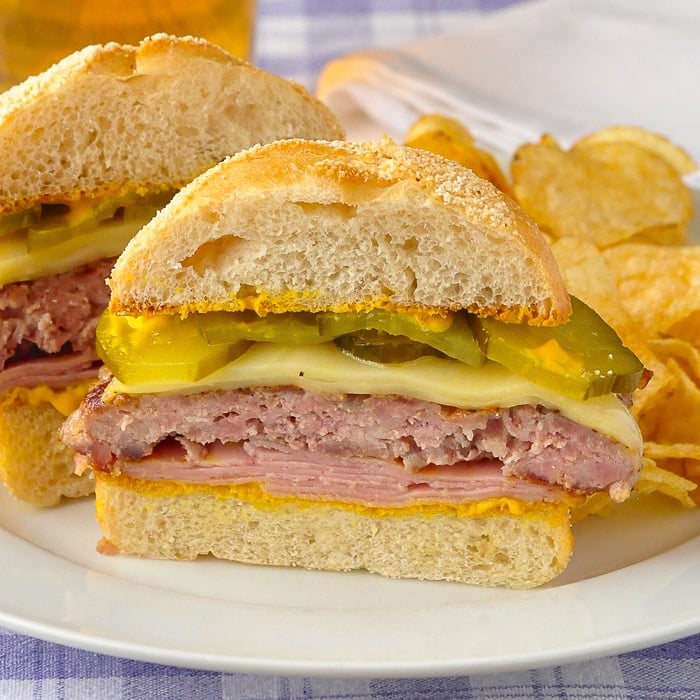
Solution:
{"label": "whole front sandwich half with pickles, cheese, patty and ham", "polygon": [[256,146],[108,283],[105,368],[62,428],[100,551],[533,587],[572,508],[637,479],[642,366],[523,211],[440,156]]}

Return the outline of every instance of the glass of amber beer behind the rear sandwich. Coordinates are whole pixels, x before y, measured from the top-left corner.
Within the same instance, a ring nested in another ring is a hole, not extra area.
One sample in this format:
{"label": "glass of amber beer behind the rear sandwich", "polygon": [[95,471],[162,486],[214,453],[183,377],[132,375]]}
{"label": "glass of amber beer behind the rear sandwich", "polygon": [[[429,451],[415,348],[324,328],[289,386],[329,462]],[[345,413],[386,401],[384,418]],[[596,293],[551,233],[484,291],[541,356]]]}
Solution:
{"label": "glass of amber beer behind the rear sandwich", "polygon": [[157,32],[208,39],[250,58],[255,0],[0,0],[0,90],[64,56]]}

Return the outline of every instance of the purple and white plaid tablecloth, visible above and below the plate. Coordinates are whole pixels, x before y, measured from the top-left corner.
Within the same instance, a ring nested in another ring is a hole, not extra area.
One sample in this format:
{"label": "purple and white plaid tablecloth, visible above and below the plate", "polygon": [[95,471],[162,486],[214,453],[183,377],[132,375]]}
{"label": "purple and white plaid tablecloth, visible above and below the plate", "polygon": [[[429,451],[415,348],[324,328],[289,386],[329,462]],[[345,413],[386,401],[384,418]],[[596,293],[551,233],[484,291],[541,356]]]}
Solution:
{"label": "purple and white plaid tablecloth, visible above and below the plate", "polygon": [[[259,0],[255,61],[313,89],[322,66],[334,57],[455,30],[473,12],[516,1]],[[700,698],[700,636],[530,671],[390,680],[190,670],[0,630],[0,698],[683,700]]]}

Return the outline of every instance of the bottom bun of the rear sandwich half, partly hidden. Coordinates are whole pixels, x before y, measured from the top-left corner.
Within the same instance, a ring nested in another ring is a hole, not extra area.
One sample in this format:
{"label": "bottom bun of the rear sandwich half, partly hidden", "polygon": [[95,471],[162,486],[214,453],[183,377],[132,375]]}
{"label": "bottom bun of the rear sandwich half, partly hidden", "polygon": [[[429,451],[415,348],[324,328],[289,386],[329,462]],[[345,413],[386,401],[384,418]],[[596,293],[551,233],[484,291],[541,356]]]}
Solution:
{"label": "bottom bun of the rear sandwich half, partly hidden", "polygon": [[73,451],[58,438],[64,420],[50,403],[34,406],[12,393],[0,399],[0,478],[15,498],[53,506],[93,492],[92,474],[73,473]]}

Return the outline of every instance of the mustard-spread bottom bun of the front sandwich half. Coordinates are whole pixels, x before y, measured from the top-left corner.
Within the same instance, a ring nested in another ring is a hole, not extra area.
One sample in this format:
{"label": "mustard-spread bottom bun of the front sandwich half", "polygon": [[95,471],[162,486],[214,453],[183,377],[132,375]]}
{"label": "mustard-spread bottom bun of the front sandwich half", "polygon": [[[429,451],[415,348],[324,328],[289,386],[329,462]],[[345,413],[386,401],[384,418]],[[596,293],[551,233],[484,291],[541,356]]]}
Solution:
{"label": "mustard-spread bottom bun of the front sandwich half", "polygon": [[[103,553],[533,588],[569,562],[565,504],[371,508],[271,497],[256,485],[196,486],[96,474]],[[465,514],[466,513],[466,514]]]}

